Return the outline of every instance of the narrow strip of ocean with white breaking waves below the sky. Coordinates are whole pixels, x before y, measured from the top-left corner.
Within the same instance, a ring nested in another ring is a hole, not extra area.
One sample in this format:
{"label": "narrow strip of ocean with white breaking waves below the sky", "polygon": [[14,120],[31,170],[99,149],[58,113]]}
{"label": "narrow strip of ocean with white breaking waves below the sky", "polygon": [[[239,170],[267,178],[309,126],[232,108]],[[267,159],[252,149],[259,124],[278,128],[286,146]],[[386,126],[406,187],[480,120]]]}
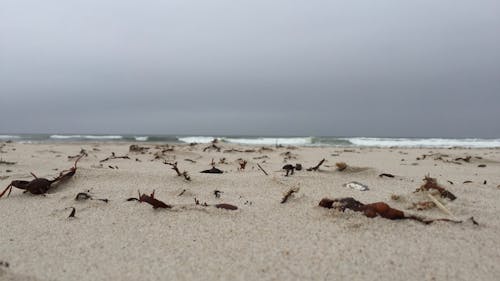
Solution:
{"label": "narrow strip of ocean with white breaking waves below the sky", "polygon": [[480,138],[375,138],[375,137],[255,137],[255,136],[175,136],[175,135],[79,135],[79,134],[4,134],[0,141],[21,143],[43,142],[166,142],[209,143],[214,138],[221,142],[246,145],[294,145],[333,147],[500,147],[500,139]]}

